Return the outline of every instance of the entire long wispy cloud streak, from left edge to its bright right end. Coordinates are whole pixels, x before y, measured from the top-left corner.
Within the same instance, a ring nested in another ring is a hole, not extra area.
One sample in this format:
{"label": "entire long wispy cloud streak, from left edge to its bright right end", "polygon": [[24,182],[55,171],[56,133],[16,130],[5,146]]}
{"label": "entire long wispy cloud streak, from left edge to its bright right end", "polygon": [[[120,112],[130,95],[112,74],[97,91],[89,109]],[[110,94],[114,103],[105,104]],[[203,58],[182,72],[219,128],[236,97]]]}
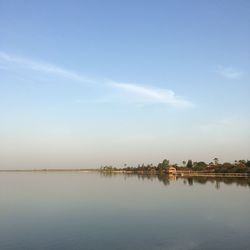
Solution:
{"label": "entire long wispy cloud streak, from left edge to its bright right end", "polygon": [[[148,87],[144,85],[134,84],[134,83],[121,83],[109,79],[102,79],[100,81],[94,80],[94,78],[85,77],[82,74],[75,73],[73,71],[64,69],[62,67],[35,61],[32,59],[27,59],[15,55],[10,55],[5,52],[0,51],[0,62],[4,63],[4,67],[10,67],[12,69],[26,69],[31,71],[36,71],[40,73],[46,73],[47,75],[57,76],[63,79],[78,81],[83,83],[94,83],[99,84],[101,87],[106,89],[118,89],[124,94],[126,102],[134,102],[139,104],[150,104],[150,103],[161,103],[170,105],[173,107],[191,107],[193,104],[184,99],[181,96],[175,94],[174,91],[169,89],[159,89],[155,87]],[[108,103],[108,102],[119,102],[117,96],[112,95],[112,98],[101,97],[93,102]],[[85,103],[84,100],[77,100],[76,103]],[[91,102],[87,100],[87,102]]]}

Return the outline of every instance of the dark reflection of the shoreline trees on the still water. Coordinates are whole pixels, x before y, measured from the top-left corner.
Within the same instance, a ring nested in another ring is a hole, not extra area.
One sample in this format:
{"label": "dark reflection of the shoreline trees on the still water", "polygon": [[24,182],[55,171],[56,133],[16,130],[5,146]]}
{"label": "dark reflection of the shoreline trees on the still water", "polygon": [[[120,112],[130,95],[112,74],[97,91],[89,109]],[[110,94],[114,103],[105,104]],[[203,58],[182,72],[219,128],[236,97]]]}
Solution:
{"label": "dark reflection of the shoreline trees on the still water", "polygon": [[250,188],[250,178],[249,177],[210,177],[210,176],[176,176],[176,175],[166,175],[166,174],[135,174],[135,173],[119,173],[119,172],[101,172],[101,176],[112,178],[115,176],[123,176],[124,179],[137,177],[139,180],[158,180],[163,183],[165,186],[171,184],[174,181],[181,181],[184,185],[193,186],[197,184],[205,185],[205,184],[214,184],[216,189],[220,189],[221,184],[225,185],[236,185],[241,187],[249,187]]}

